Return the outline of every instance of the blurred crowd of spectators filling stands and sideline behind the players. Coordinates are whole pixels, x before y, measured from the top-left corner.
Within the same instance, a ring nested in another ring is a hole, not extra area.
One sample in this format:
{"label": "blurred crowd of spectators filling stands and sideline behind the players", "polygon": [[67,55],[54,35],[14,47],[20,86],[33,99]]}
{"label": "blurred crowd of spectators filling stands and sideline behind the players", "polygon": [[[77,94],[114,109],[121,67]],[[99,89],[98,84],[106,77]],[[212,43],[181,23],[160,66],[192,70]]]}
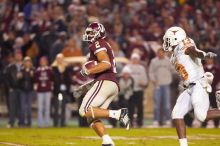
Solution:
{"label": "blurred crowd of spectators filling stands and sideline behind the players", "polygon": [[[80,65],[67,65],[63,58],[88,54],[81,38],[94,21],[105,26],[115,56],[130,60],[117,64],[121,92],[111,106],[128,107],[132,126],[144,124],[144,90],[149,83],[154,90],[153,125],[171,125],[179,81],[161,50],[167,28],[182,27],[199,49],[220,56],[218,0],[0,0],[0,84],[9,127],[16,118],[18,125],[31,126],[33,96],[39,127],[48,126],[51,114],[54,126],[65,126],[66,103],[78,101],[71,87],[85,80],[78,77]],[[204,62],[206,70],[216,74],[213,93],[220,86],[219,64],[220,57]],[[211,106],[216,107],[213,93]]]}

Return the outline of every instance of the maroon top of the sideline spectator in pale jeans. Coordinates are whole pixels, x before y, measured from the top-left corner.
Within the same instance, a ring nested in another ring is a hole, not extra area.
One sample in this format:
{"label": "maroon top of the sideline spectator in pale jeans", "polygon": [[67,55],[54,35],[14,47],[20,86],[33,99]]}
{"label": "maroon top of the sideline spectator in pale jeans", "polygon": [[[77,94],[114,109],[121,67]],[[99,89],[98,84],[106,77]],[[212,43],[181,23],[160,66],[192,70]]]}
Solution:
{"label": "maroon top of the sideline spectator in pale jeans", "polygon": [[52,90],[52,70],[50,67],[38,67],[34,74],[37,84],[37,92],[48,92]]}

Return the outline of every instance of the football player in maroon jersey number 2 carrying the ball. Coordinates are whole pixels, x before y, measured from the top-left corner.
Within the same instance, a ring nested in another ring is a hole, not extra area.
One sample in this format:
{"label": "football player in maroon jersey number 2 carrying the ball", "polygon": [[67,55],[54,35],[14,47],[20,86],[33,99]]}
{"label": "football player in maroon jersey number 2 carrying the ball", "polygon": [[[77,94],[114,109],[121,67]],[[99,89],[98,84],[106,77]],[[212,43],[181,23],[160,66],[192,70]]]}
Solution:
{"label": "football player in maroon jersey number 2 carrying the ball", "polygon": [[111,46],[105,41],[105,28],[98,22],[93,22],[85,30],[83,40],[89,43],[89,61],[97,61],[92,68],[82,67],[83,76],[93,75],[95,83],[86,93],[79,113],[88,119],[97,135],[102,138],[102,146],[114,146],[114,142],[106,133],[100,118],[114,118],[129,129],[128,109],[108,110],[109,104],[118,95],[116,66]]}

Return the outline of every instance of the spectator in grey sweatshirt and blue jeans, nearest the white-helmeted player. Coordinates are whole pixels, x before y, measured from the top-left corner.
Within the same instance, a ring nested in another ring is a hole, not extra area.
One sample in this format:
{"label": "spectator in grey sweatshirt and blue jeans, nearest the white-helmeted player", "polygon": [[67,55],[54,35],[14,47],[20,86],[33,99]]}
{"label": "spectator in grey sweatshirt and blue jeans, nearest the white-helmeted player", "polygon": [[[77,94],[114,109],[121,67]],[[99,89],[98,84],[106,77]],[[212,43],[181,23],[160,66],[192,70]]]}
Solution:
{"label": "spectator in grey sweatshirt and blue jeans, nearest the white-helmeted player", "polygon": [[[153,126],[158,127],[160,121],[163,122],[164,120],[166,126],[171,126],[170,84],[172,82],[172,68],[169,59],[165,56],[162,49],[157,51],[157,57],[150,63],[149,77],[154,85]],[[163,111],[164,117],[161,117],[161,111]]]}

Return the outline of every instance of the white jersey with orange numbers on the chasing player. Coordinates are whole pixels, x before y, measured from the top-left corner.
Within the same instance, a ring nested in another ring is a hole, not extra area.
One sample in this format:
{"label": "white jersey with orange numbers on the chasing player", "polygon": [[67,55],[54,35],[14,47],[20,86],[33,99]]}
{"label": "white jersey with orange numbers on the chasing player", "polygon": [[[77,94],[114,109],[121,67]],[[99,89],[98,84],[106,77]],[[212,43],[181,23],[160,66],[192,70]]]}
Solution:
{"label": "white jersey with orange numbers on the chasing player", "polygon": [[185,54],[185,50],[190,46],[196,48],[194,41],[186,38],[176,46],[171,56],[171,63],[175,66],[185,85],[202,78],[204,75],[201,59],[192,58]]}

